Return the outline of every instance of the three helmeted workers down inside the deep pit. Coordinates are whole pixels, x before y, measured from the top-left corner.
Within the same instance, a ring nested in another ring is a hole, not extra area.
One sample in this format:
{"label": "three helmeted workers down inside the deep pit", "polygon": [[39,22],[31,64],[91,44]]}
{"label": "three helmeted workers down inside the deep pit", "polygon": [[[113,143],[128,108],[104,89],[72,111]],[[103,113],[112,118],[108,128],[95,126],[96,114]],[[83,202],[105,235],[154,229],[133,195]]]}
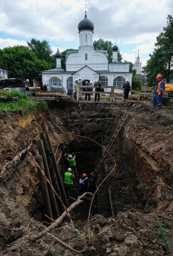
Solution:
{"label": "three helmeted workers down inside the deep pit", "polygon": [[[70,192],[73,186],[73,180],[77,179],[78,177],[75,158],[76,158],[75,155],[69,154],[67,156],[69,168],[64,174],[64,189],[65,189],[67,198],[70,197]],[[80,184],[80,195],[82,195],[84,192],[87,191],[87,186],[88,186],[88,177],[85,173],[82,174],[79,180],[79,184]]]}

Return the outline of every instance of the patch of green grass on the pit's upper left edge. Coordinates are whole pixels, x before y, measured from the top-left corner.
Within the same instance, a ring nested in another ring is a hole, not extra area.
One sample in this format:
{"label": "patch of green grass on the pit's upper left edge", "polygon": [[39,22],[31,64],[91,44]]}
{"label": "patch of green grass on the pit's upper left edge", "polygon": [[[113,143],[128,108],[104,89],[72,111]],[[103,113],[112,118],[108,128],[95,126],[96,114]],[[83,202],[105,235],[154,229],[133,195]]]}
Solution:
{"label": "patch of green grass on the pit's upper left edge", "polygon": [[[0,92],[5,92],[0,91]],[[4,110],[8,111],[20,111],[21,115],[27,116],[31,112],[34,114],[38,110],[43,112],[47,111],[47,102],[45,101],[32,101],[29,100],[28,96],[24,93],[20,93],[17,90],[12,90],[11,92],[7,92],[7,94],[1,94],[5,96],[18,96],[18,101],[8,101],[2,102],[0,101],[0,111]]]}

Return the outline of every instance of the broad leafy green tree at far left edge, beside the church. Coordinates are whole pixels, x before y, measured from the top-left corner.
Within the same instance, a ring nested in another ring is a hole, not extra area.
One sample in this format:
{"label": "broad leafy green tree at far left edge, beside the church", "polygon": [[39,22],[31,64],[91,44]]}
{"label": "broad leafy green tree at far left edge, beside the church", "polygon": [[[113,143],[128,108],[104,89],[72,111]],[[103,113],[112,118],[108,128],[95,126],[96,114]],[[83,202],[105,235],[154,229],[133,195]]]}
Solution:
{"label": "broad leafy green tree at far left edge, beside the church", "polygon": [[6,47],[0,51],[0,63],[7,61],[11,77],[32,81],[39,76],[41,70],[50,69],[50,64],[38,60],[37,56],[26,46]]}

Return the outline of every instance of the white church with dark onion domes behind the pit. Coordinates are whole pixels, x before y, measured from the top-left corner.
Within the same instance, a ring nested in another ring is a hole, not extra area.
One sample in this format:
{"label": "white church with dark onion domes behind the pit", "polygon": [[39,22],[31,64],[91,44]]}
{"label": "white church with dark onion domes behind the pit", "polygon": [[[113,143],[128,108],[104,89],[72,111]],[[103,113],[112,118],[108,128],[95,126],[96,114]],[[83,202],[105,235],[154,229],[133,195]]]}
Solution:
{"label": "white church with dark onion domes behind the pit", "polygon": [[[75,79],[81,77],[83,85],[85,81],[100,80],[102,86],[122,87],[128,79],[132,84],[132,73],[129,72],[130,63],[118,62],[118,46],[112,48],[113,59],[109,62],[109,56],[105,50],[94,50],[93,34],[94,24],[85,17],[78,24],[80,46],[77,51],[67,52],[66,70],[61,68],[61,54],[59,49],[55,54],[56,67],[41,72],[43,83],[49,91],[64,91],[73,88]],[[105,89],[108,91],[108,89]]]}

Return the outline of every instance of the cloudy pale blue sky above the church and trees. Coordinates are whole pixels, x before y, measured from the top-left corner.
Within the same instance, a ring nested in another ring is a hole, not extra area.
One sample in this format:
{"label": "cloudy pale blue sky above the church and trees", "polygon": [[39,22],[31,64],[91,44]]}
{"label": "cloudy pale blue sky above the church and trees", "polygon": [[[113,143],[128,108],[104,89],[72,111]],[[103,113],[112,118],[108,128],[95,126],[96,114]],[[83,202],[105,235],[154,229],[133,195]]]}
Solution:
{"label": "cloudy pale blue sky above the church and trees", "polygon": [[136,51],[145,66],[156,36],[173,13],[173,0],[0,0],[0,48],[49,41],[56,52],[79,47],[78,23],[94,23],[93,40],[118,45],[123,60],[134,63]]}

